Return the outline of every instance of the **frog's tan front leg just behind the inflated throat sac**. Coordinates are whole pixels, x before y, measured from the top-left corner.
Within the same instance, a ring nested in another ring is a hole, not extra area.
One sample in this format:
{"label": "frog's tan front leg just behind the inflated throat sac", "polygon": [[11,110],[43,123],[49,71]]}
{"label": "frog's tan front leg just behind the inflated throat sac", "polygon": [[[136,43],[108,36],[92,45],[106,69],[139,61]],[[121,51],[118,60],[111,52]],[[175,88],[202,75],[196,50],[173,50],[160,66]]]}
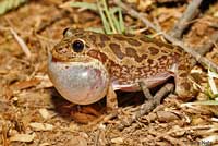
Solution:
{"label": "frog's tan front leg just behind the inflated throat sac", "polygon": [[107,111],[113,111],[118,109],[117,94],[113,90],[112,85],[110,85],[108,88],[106,102]]}

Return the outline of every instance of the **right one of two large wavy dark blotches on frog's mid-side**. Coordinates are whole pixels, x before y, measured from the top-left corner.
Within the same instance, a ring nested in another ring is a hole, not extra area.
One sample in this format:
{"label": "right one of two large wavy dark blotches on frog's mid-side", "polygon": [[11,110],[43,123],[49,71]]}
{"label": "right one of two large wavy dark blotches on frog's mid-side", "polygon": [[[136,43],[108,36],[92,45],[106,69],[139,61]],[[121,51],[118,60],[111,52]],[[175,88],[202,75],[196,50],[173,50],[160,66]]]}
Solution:
{"label": "right one of two large wavy dark blotches on frog's mid-side", "polygon": [[137,54],[137,51],[132,47],[126,47],[125,53],[126,53],[128,57],[134,58],[134,60],[137,61],[137,62],[142,62],[144,59],[147,58],[147,54],[143,54],[142,57],[140,57]]}

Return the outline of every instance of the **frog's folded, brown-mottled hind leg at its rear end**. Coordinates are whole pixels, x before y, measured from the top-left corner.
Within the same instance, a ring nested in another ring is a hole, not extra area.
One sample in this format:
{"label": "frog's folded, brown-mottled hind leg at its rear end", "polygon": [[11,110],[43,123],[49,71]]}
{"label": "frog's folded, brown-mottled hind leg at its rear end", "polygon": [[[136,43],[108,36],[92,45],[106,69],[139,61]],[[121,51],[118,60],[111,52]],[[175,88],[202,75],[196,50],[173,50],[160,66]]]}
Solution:
{"label": "frog's folded, brown-mottled hind leg at its rear end", "polygon": [[175,70],[175,93],[184,100],[190,100],[197,94],[197,90],[194,89],[193,83],[190,80],[193,63],[194,60],[191,57],[182,58]]}

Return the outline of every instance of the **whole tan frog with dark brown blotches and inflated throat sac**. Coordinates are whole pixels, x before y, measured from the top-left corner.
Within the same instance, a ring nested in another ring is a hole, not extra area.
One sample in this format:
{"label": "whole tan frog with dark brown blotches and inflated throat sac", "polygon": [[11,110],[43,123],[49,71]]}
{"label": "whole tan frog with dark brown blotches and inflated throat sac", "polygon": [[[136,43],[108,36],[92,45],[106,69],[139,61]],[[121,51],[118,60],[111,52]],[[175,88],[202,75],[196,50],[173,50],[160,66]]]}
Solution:
{"label": "whole tan frog with dark brown blotches and inflated throat sac", "polygon": [[[145,35],[101,34],[65,28],[48,59],[48,75],[56,89],[76,105],[90,105],[104,97],[118,107],[116,90],[150,89],[170,77],[182,98],[196,95],[187,78],[195,59],[182,48]],[[146,96],[146,95],[145,95]]]}

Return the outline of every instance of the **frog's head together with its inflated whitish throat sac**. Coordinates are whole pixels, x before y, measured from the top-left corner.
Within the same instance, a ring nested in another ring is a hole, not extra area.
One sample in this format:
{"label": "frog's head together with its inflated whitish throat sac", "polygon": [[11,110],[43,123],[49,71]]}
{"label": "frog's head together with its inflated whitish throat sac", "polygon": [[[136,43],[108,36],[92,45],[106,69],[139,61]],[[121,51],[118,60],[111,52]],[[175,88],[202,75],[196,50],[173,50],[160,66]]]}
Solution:
{"label": "frog's head together with its inflated whitish throat sac", "polygon": [[101,99],[109,85],[109,74],[98,59],[88,56],[94,48],[92,32],[66,28],[63,39],[49,57],[48,74],[57,90],[68,100],[88,105]]}

